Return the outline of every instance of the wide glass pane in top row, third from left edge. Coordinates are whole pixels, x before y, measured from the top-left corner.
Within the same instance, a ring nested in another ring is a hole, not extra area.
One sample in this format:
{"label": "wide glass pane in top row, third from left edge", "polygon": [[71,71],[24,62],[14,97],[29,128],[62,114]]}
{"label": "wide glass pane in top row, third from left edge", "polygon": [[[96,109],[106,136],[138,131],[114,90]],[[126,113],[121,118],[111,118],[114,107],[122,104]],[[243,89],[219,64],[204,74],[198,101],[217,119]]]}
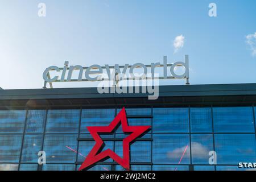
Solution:
{"label": "wide glass pane in top row, third from left edge", "polygon": [[46,133],[77,133],[80,110],[48,110]]}

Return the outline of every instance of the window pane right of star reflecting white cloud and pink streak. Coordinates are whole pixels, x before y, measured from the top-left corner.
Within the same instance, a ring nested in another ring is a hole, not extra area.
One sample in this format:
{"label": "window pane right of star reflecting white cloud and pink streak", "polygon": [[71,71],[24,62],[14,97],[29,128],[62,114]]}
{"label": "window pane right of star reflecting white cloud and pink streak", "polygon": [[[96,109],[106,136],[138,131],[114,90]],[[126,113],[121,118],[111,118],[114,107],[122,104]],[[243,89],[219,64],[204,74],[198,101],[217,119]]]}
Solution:
{"label": "window pane right of star reflecting white cloud and pink streak", "polygon": [[189,164],[189,135],[153,135],[153,162]]}

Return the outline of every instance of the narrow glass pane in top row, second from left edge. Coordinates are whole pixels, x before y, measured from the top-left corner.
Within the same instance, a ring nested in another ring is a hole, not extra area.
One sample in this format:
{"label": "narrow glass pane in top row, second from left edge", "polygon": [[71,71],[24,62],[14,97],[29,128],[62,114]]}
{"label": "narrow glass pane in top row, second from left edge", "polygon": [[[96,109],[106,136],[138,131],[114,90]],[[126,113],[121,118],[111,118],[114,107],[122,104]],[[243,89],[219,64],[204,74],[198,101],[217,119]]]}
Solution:
{"label": "narrow glass pane in top row, second from left edge", "polygon": [[28,110],[26,132],[43,133],[45,120],[46,110]]}

